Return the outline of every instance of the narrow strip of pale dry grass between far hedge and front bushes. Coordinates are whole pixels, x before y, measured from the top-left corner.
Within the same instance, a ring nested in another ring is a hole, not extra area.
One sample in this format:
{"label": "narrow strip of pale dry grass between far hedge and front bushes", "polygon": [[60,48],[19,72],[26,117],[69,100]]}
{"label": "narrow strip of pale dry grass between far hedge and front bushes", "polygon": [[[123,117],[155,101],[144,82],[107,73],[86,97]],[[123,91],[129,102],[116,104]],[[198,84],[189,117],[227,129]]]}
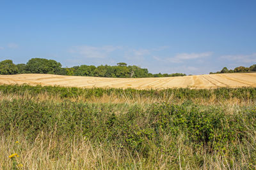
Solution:
{"label": "narrow strip of pale dry grass between far hedge and front bushes", "polygon": [[[58,94],[49,94],[47,92],[42,92],[39,94],[31,94],[30,92],[25,91],[24,94],[3,94],[3,92],[0,91],[0,101],[1,100],[9,100],[12,101],[13,99],[26,99],[26,100],[33,100],[33,101],[52,101],[54,103],[62,103],[63,101],[72,101],[72,102],[84,102],[84,103],[127,103],[127,104],[152,104],[152,103],[174,103],[174,104],[182,104],[185,101],[188,101],[188,99],[177,99],[173,96],[173,94],[168,94],[163,97],[157,97],[157,96],[141,96],[140,94],[136,94],[134,97],[127,97],[124,95],[118,96],[114,93],[111,94],[103,94],[100,97],[83,97],[83,96],[77,96],[77,97],[61,97]],[[216,95],[212,94],[211,97],[205,99],[203,97],[200,98],[194,98],[189,99],[189,101],[192,101],[195,104],[202,104],[202,105],[222,105],[222,106],[251,106],[256,103],[256,100],[254,99],[239,99],[238,97],[232,97],[229,99],[218,99]]]}

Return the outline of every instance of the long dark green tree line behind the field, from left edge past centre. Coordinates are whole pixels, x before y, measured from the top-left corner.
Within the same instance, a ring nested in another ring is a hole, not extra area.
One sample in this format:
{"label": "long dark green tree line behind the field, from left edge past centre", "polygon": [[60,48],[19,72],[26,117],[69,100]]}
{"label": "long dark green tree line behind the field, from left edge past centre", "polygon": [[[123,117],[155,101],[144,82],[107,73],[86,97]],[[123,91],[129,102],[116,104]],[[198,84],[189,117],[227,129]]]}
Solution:
{"label": "long dark green tree line behind the field, from left edge past centre", "polygon": [[74,66],[62,67],[56,60],[33,58],[26,64],[13,64],[12,60],[3,60],[0,62],[0,74],[59,74],[69,76],[97,76],[111,78],[147,78],[147,77],[170,77],[186,76],[182,73],[173,74],[152,74],[148,69],[139,66],[127,66],[125,62],[119,62],[116,66]]}

